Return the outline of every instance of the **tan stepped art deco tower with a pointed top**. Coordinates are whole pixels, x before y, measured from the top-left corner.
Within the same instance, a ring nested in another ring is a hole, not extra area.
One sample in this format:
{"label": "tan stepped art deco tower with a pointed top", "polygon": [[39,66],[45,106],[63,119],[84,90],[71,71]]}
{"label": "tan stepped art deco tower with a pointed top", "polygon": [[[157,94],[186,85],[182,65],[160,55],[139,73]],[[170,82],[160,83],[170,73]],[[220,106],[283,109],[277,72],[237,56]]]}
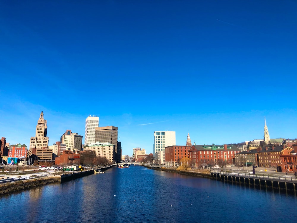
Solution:
{"label": "tan stepped art deco tower with a pointed top", "polygon": [[41,112],[36,126],[36,135],[30,139],[30,149],[48,147],[48,137],[46,136],[48,127],[46,123],[47,121],[43,118],[43,112]]}

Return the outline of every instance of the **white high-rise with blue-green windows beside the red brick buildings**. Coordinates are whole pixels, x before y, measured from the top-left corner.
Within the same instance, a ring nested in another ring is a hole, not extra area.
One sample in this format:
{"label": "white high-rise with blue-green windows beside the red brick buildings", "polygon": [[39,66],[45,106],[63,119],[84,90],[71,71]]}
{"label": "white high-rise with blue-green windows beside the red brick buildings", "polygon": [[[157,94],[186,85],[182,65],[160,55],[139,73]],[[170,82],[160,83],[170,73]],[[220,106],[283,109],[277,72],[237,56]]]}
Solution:
{"label": "white high-rise with blue-green windows beside the red brick buildings", "polygon": [[175,131],[154,132],[153,154],[156,163],[161,165],[165,163],[165,147],[172,145],[176,145]]}

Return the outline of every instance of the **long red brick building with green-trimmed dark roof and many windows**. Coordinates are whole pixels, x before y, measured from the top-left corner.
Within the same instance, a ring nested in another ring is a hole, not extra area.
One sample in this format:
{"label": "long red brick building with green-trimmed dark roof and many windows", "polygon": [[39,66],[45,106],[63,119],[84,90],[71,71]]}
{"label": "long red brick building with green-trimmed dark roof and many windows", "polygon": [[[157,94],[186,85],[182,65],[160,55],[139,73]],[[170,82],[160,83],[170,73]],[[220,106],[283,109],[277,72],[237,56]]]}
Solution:
{"label": "long red brick building with green-trimmed dark roof and many windows", "polygon": [[189,158],[195,164],[195,167],[200,167],[201,164],[217,165],[219,161],[224,161],[226,164],[235,163],[235,154],[240,150],[232,145],[192,145],[189,150]]}

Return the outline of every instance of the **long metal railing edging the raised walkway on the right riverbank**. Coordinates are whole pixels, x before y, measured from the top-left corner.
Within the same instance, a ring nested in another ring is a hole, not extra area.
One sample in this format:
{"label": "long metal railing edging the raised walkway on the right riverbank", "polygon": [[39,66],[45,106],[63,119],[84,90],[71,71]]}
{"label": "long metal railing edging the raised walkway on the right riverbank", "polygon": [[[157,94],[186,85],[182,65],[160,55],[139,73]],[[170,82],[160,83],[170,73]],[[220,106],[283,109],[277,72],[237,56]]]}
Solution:
{"label": "long metal railing edging the raised walkway on the right riverbank", "polygon": [[260,180],[278,180],[283,182],[292,182],[297,183],[297,178],[291,176],[282,176],[282,175],[265,175],[265,174],[253,174],[253,173],[236,173],[236,172],[227,172],[227,171],[219,171],[219,170],[211,170],[211,173],[222,174],[225,176],[235,176],[235,177],[249,177]]}

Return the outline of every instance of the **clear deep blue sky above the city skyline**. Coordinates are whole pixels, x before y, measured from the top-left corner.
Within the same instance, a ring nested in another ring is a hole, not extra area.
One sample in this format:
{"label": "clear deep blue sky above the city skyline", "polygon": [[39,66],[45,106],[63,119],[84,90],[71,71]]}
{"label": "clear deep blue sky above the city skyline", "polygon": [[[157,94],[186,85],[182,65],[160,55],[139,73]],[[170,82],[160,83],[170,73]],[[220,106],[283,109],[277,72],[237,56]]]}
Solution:
{"label": "clear deep blue sky above the city skyline", "polygon": [[[0,137],[49,145],[85,119],[119,127],[122,154],[297,137],[297,2],[0,1]],[[146,124],[146,125],[143,125]],[[84,140],[84,139],[83,139]]]}

